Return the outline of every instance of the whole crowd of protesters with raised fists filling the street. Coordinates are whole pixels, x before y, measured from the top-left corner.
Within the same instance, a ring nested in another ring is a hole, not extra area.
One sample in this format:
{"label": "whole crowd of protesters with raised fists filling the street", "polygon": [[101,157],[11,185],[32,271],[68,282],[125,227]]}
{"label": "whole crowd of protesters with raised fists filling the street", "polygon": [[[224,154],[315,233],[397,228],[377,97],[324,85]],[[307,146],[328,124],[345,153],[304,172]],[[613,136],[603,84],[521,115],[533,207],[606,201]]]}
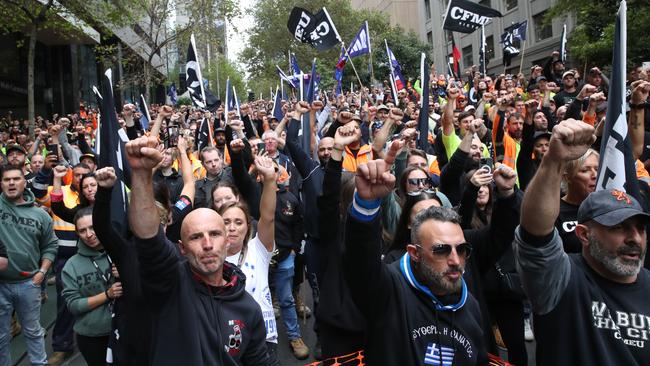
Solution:
{"label": "whole crowd of protesters with raised fists filling the street", "polygon": [[528,75],[432,74],[398,100],[387,83],[290,94],[281,120],[268,100],[163,105],[144,129],[126,104],[126,235],[111,225],[121,167],[98,166],[98,111],[9,115],[0,365],[20,332],[32,365],[75,348],[92,366],[278,365],[278,347],[326,364],[527,365],[533,340],[538,364],[648,365],[648,72],[627,80],[638,199],[594,192],[608,80],[557,52]]}

